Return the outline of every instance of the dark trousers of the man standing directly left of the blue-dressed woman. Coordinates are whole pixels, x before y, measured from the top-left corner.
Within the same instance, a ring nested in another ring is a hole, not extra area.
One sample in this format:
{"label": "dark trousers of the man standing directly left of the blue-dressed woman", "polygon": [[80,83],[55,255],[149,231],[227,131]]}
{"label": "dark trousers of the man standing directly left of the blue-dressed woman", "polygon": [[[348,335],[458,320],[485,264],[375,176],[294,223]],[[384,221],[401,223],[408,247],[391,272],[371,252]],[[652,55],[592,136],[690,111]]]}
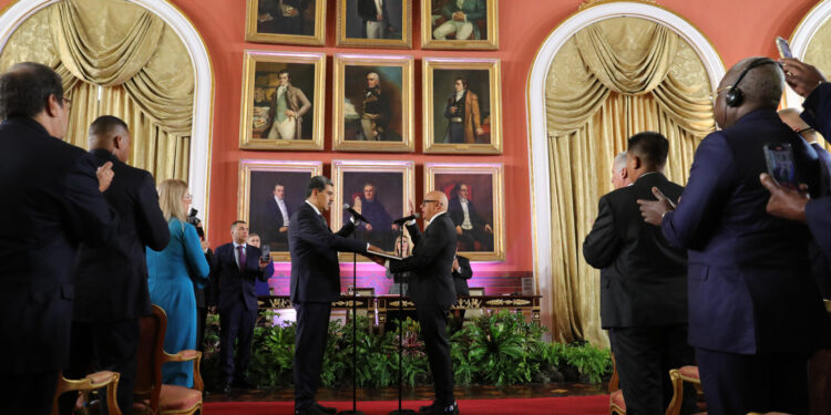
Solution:
{"label": "dark trousers of the man standing directly left of the blue-dressed woman", "polygon": [[[70,362],[63,371],[66,378],[82,378],[98,371],[119,372],[116,398],[122,414],[133,413],[133,388],[138,353],[138,320],[124,320],[114,323],[72,322],[70,341]],[[61,396],[61,414],[71,414],[78,394],[66,393]],[[102,394],[106,402],[106,394]],[[102,414],[106,413],[106,405]]]}

